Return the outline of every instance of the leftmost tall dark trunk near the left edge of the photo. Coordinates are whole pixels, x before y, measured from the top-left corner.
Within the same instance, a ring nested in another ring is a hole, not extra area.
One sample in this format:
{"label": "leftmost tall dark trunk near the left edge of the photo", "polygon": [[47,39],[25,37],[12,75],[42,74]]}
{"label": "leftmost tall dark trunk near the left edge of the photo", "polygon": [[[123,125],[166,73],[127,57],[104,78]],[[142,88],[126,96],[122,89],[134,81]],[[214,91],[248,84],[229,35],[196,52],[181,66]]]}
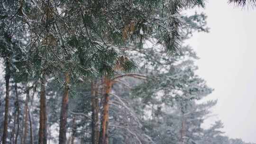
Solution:
{"label": "leftmost tall dark trunk near the left edge of the photo", "polygon": [[8,135],[8,109],[9,109],[9,80],[10,80],[10,60],[9,57],[6,58],[6,69],[5,69],[5,110],[4,110],[4,128],[3,128],[3,137],[2,144],[6,144],[6,139]]}

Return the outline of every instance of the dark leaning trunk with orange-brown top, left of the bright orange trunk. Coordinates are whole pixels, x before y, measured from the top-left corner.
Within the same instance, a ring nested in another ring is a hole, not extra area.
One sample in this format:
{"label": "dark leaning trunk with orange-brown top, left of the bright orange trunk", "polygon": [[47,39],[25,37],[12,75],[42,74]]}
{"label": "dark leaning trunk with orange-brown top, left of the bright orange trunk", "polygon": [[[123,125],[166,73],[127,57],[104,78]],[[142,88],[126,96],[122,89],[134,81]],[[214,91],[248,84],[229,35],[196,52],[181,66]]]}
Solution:
{"label": "dark leaning trunk with orange-brown top, left of the bright orange trunk", "polygon": [[60,115],[60,131],[59,131],[59,144],[66,144],[66,125],[67,125],[67,111],[68,111],[68,84],[70,76],[65,72],[65,89],[62,98],[61,115]]}

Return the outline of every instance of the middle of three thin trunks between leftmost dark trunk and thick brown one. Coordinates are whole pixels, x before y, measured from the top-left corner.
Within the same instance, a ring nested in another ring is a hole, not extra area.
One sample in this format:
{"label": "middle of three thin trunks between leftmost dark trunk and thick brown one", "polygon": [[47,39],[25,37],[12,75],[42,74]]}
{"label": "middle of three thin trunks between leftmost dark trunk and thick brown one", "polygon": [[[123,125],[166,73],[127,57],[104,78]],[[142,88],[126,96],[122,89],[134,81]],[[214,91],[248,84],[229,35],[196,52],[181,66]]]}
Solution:
{"label": "middle of three thin trunks between leftmost dark trunk and thick brown one", "polygon": [[24,131],[23,131],[23,136],[22,136],[22,141],[21,144],[26,144],[27,143],[27,119],[28,119],[28,93],[29,91],[27,90],[27,97],[26,97],[26,101],[25,101],[25,108],[24,108]]}

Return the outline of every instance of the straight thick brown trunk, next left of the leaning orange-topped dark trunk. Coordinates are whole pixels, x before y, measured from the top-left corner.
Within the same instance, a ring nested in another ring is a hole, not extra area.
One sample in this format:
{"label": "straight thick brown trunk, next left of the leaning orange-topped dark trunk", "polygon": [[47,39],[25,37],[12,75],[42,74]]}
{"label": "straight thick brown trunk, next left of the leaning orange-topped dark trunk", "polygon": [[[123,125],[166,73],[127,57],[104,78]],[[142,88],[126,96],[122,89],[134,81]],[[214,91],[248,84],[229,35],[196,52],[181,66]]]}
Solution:
{"label": "straight thick brown trunk, next left of the leaning orange-topped dark trunk", "polygon": [[46,115],[46,75],[43,74],[40,93],[40,118],[38,144],[47,144],[47,115]]}

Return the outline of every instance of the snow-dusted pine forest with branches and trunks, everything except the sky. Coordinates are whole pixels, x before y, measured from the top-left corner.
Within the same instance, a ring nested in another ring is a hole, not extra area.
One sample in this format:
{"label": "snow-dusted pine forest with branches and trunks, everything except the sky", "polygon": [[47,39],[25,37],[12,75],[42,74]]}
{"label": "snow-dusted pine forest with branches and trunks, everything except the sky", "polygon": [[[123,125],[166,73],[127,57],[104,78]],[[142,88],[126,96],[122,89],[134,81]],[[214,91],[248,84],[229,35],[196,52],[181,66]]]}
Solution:
{"label": "snow-dusted pine forest with branches and trunks, everything except the sky", "polygon": [[198,102],[213,89],[184,41],[204,5],[1,0],[1,144],[252,144],[202,127],[217,100]]}

